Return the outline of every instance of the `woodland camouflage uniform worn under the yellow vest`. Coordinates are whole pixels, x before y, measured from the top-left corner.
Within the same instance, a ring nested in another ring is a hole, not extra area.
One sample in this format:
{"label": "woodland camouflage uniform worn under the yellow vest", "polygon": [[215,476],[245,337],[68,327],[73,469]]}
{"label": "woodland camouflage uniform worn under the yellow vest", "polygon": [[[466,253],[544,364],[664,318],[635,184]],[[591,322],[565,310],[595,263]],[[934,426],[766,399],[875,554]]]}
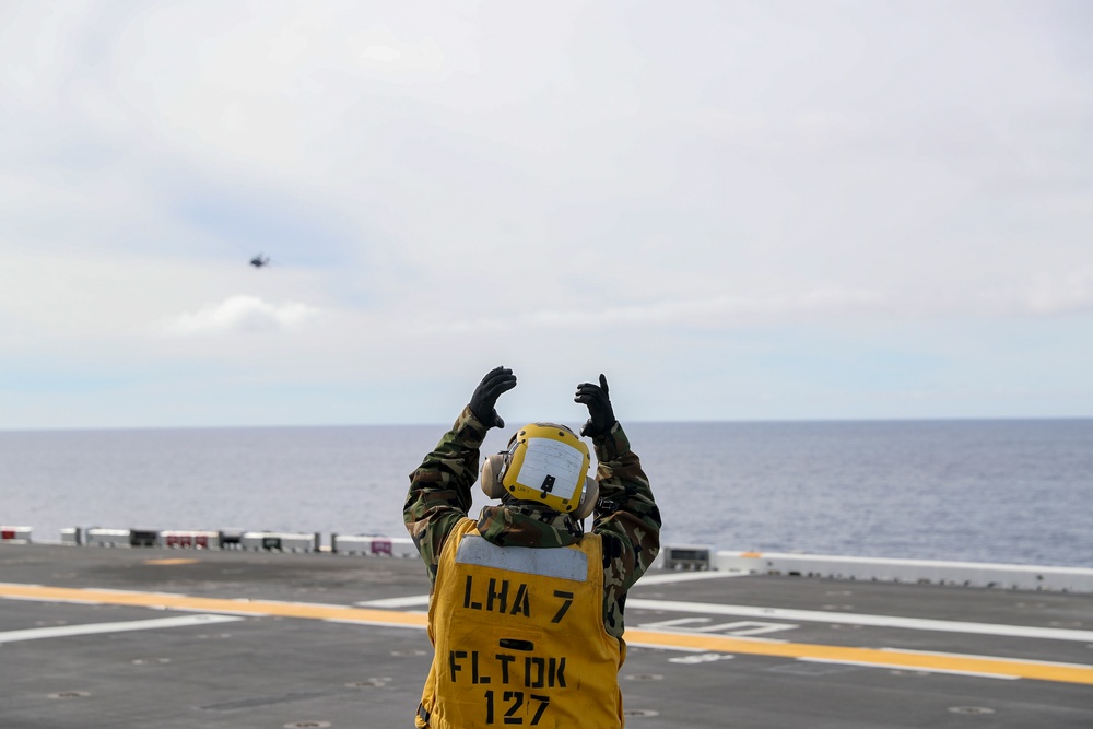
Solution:
{"label": "woodland camouflage uniform worn under the yellow vest", "polygon": [[[471,486],[479,475],[479,448],[489,428],[463,408],[436,450],[410,475],[402,517],[410,536],[436,581],[440,550],[451,529],[467,517]],[[660,551],[660,510],[649,480],[615,422],[592,438],[600,497],[592,531],[603,542],[603,624],[621,638],[626,591],[645,574]],[[572,516],[519,503],[486,506],[478,519],[479,532],[500,546],[566,546],[584,533]]]}

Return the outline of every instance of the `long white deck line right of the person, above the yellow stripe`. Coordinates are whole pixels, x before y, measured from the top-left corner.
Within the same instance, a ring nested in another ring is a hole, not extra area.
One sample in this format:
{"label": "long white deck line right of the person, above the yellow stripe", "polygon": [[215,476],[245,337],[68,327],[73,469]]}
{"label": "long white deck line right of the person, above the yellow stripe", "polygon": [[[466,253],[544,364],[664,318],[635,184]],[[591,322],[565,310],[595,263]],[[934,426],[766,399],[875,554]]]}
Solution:
{"label": "long white deck line right of the person, above the yellow stripe", "polygon": [[865,613],[824,612],[822,610],[787,610],[784,608],[722,605],[710,602],[643,600],[639,598],[630,598],[626,600],[626,607],[632,609],[637,608],[638,610],[667,610],[671,612],[696,613],[703,615],[734,615],[738,618],[762,618],[766,620],[786,620],[792,622],[838,623],[842,625],[897,627],[908,631],[972,633],[977,635],[1002,635],[1019,638],[1046,638],[1048,640],[1093,643],[1093,631],[1076,631],[1061,627],[1003,625],[1001,623],[969,623],[953,620],[931,620],[928,618],[902,618],[900,615],[869,615]]}

